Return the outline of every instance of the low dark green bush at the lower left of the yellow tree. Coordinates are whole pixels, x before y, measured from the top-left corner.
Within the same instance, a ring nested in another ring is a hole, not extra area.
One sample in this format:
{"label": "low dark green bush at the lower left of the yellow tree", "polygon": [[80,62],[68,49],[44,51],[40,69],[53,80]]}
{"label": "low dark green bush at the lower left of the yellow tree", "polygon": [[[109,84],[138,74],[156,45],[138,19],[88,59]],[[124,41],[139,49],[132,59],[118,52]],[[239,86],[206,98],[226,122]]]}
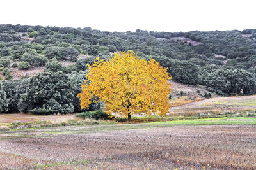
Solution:
{"label": "low dark green bush at the lower left of the yellow tree", "polygon": [[99,120],[99,119],[106,120],[108,119],[109,115],[102,110],[97,110],[97,111],[86,111],[86,112],[78,113],[76,117],[83,118],[83,119],[95,118],[96,120]]}

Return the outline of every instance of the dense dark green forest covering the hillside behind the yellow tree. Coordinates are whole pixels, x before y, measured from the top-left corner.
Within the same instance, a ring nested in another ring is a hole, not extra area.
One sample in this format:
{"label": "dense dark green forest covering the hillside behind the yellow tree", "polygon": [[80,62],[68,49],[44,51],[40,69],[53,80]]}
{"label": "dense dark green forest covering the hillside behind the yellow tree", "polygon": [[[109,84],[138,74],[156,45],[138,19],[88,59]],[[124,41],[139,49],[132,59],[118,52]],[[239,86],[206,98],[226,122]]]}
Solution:
{"label": "dense dark green forest covering the hillside behind the yellow tree", "polygon": [[[76,95],[87,64],[133,50],[156,59],[172,79],[220,95],[256,92],[256,29],[107,32],[86,28],[0,25],[0,113],[83,111]],[[63,65],[68,62],[68,66]],[[42,68],[14,78],[13,70]],[[100,107],[93,103],[90,110]]]}

